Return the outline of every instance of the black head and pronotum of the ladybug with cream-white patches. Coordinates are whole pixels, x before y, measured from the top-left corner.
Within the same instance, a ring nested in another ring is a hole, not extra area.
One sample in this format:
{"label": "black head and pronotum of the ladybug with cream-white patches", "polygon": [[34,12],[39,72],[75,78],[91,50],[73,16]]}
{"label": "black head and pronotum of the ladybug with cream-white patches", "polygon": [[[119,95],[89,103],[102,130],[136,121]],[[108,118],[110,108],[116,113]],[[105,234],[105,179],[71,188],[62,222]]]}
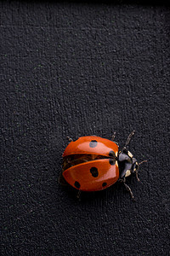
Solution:
{"label": "black head and pronotum of the ladybug with cream-white patches", "polygon": [[118,155],[118,166],[120,177],[128,177],[134,172],[138,172],[139,164],[133,154],[124,148]]}

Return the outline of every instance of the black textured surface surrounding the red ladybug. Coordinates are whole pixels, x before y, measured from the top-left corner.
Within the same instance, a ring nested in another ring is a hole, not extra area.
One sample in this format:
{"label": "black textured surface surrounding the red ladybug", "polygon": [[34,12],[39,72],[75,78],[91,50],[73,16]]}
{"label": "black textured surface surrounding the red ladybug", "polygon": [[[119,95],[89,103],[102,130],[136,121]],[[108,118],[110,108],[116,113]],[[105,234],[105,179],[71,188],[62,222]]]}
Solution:
{"label": "black textured surface surrounding the red ladybug", "polygon": [[[170,255],[170,11],[120,3],[0,3],[2,255]],[[133,129],[135,202],[59,185],[67,136]]]}

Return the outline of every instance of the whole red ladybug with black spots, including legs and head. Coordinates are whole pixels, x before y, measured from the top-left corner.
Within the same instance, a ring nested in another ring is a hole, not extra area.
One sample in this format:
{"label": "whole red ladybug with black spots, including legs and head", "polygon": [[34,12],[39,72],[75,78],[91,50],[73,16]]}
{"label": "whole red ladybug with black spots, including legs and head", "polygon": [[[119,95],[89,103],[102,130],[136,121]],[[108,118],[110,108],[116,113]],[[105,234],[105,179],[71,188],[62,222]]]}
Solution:
{"label": "whole red ladybug with black spots, including legs and head", "polygon": [[133,137],[134,131],[127,137],[122,150],[112,140],[97,136],[79,137],[65,148],[60,183],[69,183],[73,188],[81,191],[99,191],[121,181],[133,198],[132,190],[126,184],[126,177],[136,173],[138,177],[139,165],[127,150],[127,144]]}

